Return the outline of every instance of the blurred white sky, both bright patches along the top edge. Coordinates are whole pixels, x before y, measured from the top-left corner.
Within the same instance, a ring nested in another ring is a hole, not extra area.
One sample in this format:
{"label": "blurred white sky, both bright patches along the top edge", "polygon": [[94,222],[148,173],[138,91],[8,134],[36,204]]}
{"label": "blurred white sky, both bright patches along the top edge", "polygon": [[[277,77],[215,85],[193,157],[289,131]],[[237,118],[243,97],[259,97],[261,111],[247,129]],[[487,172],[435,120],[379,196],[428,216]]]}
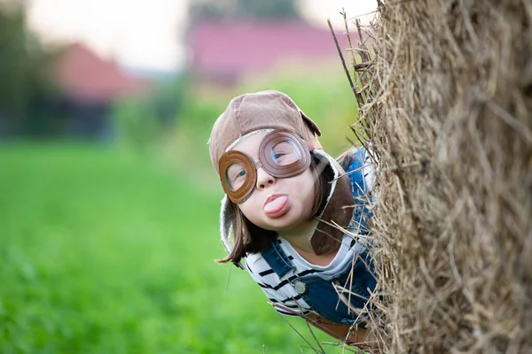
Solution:
{"label": "blurred white sky, both bright patches along the top edge", "polygon": [[[28,17],[43,39],[84,42],[130,68],[172,71],[186,59],[188,1],[193,0],[29,0]],[[331,18],[339,30],[342,7],[352,17],[377,6],[376,0],[300,1],[312,22],[326,27]]]}

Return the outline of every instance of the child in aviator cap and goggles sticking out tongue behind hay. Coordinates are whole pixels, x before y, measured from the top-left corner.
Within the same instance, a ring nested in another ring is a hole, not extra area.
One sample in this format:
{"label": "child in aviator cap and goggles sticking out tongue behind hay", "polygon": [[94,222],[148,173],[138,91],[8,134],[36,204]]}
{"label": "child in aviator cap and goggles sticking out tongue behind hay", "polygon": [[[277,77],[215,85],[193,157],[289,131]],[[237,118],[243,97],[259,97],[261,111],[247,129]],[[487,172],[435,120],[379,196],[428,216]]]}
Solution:
{"label": "child in aviator cap and goggles sticking out tongue behind hay", "polygon": [[340,165],[317,135],[317,125],[278,91],[231,100],[209,139],[226,193],[220,221],[229,255],[220,262],[244,268],[245,258],[279,313],[363,342],[364,318],[353,309],[364,308],[376,284],[365,237],[372,166],[364,148],[344,154]]}

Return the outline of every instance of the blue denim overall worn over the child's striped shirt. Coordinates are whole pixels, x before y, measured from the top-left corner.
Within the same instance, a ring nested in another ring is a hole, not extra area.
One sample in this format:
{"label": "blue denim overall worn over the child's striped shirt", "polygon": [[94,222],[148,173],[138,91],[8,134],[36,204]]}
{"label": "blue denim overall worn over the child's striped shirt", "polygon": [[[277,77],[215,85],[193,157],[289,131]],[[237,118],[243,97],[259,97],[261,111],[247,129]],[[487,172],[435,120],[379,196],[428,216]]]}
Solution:
{"label": "blue denim overall worn over the child's striped shirt", "polygon": [[[348,173],[351,172],[348,176],[353,186],[353,196],[355,196],[356,205],[350,227],[355,226],[354,230],[359,235],[367,235],[369,233],[368,227],[364,222],[364,214],[366,218],[372,216],[371,212],[364,207],[366,185],[361,171],[363,165],[364,148],[361,148],[356,152],[355,158],[348,166],[347,171]],[[271,242],[268,250],[262,252],[262,257],[268,262],[273,271],[278,274],[279,278],[293,269],[292,262],[278,242]],[[351,272],[353,277],[348,279]],[[344,269],[333,275],[324,276],[313,274],[311,271],[307,275],[303,275],[303,273],[306,272],[300,273],[300,276],[293,275],[288,281],[317,314],[332,322],[346,325],[364,320],[358,318],[358,314],[349,311],[348,306],[340,300],[332,284],[335,283],[337,286],[350,289],[351,294],[348,291],[344,291],[343,297],[346,301],[350,297],[352,307],[356,309],[364,308],[370,296],[369,290],[375,289],[376,285],[375,278],[372,275],[372,258],[368,250],[363,247],[355,258],[354,264],[348,262]]]}

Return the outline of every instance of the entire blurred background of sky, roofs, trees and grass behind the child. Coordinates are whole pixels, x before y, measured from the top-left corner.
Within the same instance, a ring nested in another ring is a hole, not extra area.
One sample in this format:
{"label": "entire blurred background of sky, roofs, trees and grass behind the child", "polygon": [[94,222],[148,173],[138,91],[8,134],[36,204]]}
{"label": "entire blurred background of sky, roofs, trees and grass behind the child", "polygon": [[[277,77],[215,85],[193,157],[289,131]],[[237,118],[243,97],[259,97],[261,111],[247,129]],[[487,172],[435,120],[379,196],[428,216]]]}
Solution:
{"label": "entire blurred background of sky, roofs, trees and grass behind the child", "polygon": [[347,149],[356,101],[326,19],[350,60],[339,12],[367,25],[375,7],[0,0],[0,352],[313,352],[215,263],[207,138],[233,96],[278,89]]}

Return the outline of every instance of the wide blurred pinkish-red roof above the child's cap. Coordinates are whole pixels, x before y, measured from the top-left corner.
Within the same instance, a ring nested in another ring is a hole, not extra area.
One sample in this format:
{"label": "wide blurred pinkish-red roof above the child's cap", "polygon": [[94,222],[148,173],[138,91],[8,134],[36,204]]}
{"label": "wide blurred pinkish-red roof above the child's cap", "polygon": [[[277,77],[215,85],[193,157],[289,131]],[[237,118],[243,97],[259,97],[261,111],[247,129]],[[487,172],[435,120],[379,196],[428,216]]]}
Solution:
{"label": "wide blurred pinkish-red roof above the child's cap", "polygon": [[[346,35],[336,36],[348,48]],[[204,22],[193,27],[190,44],[192,70],[215,77],[267,70],[288,58],[338,58],[329,30],[300,21]]]}

